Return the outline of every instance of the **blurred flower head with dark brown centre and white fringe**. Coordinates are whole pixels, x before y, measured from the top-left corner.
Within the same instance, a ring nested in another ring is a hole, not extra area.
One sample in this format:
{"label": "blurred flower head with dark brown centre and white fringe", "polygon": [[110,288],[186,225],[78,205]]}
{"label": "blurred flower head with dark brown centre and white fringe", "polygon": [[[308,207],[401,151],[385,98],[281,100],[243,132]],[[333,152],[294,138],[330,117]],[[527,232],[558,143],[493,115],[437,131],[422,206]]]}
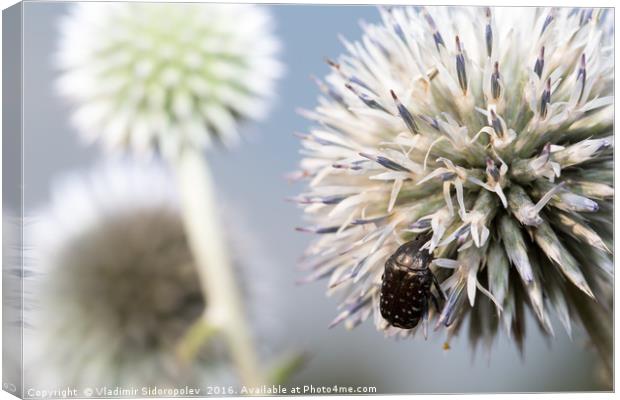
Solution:
{"label": "blurred flower head with dark brown centre and white fringe", "polygon": [[[232,382],[217,340],[191,364],[177,351],[205,300],[171,187],[162,167],[129,160],[68,175],[53,187],[50,205],[26,231],[32,249],[29,351],[33,372],[42,374],[35,382]],[[269,263],[237,219],[224,219],[253,333],[271,340]],[[262,339],[269,355],[273,341]]]}

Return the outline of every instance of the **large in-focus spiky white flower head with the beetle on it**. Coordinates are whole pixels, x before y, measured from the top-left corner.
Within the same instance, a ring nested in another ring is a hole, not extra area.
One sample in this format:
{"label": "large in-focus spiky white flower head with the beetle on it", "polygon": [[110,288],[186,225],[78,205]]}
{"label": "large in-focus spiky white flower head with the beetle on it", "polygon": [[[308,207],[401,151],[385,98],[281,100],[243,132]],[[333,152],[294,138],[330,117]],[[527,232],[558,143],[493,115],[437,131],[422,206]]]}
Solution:
{"label": "large in-focus spiky white flower head with the beetle on it", "polygon": [[296,173],[309,181],[301,230],[321,235],[303,266],[343,296],[334,324],[420,330],[390,326],[378,303],[386,259],[426,232],[447,295],[430,317],[448,336],[469,317],[474,343],[504,325],[521,344],[529,307],[547,334],[555,313],[610,344],[609,14],[382,9],[343,41]]}

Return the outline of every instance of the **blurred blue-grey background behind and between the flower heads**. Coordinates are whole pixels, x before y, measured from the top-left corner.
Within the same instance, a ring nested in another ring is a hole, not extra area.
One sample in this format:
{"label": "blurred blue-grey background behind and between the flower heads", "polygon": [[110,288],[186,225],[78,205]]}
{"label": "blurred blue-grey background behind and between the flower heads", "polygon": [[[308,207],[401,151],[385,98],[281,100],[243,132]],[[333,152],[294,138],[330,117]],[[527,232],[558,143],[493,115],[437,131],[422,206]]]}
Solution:
{"label": "blurred blue-grey background behind and between the flower heads", "polygon": [[[98,148],[79,143],[69,124],[70,108],[54,91],[57,71],[52,55],[58,19],[66,7],[60,2],[24,4],[25,215],[47,201],[56,176],[86,168],[100,158]],[[325,75],[324,58],[343,52],[339,34],[357,39],[359,22],[376,22],[379,16],[371,6],[269,8],[287,68],[277,102],[266,121],[246,129],[246,143],[208,157],[222,196],[232,199],[279,271],[272,290],[282,304],[277,327],[281,347],[310,354],[290,384],[375,386],[378,393],[601,390],[596,354],[588,349],[583,331],[576,329],[571,341],[557,329],[555,339],[547,341],[531,316],[523,357],[505,335],[488,354],[484,348],[474,353],[466,337],[456,338],[450,350],[443,350],[442,332],[425,342],[385,339],[371,321],[353,331],[342,326],[327,329],[337,315],[337,299],[326,298],[325,282],[295,284],[302,276],[297,259],[312,237],[294,231],[303,224],[301,211],[285,198],[302,188],[289,184],[285,175],[296,169],[299,160],[293,133],[310,125],[296,111],[312,108],[318,95],[310,75]]]}

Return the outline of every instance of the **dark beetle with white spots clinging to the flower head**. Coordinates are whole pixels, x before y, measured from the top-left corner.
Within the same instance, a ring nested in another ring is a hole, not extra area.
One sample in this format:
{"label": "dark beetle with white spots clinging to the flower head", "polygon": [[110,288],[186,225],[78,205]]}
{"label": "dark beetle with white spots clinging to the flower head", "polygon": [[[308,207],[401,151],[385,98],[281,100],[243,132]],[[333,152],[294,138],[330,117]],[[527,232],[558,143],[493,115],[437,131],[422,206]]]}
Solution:
{"label": "dark beetle with white spots clinging to the flower head", "polygon": [[429,238],[419,235],[403,244],[385,263],[379,308],[383,318],[397,328],[415,328],[428,312],[429,299],[439,309],[431,286],[435,284],[442,297],[443,292],[429,268],[432,255],[422,249]]}

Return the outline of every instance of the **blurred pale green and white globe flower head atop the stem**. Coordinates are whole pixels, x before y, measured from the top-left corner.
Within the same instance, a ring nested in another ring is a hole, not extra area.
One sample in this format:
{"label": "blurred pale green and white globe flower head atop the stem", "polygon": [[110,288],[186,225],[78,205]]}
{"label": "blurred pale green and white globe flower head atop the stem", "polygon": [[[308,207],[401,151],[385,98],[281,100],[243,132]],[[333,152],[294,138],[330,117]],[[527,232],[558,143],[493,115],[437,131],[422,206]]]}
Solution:
{"label": "blurred pale green and white globe flower head atop the stem", "polygon": [[267,111],[282,68],[261,6],[77,3],[61,23],[60,92],[86,140],[110,149],[233,144]]}

